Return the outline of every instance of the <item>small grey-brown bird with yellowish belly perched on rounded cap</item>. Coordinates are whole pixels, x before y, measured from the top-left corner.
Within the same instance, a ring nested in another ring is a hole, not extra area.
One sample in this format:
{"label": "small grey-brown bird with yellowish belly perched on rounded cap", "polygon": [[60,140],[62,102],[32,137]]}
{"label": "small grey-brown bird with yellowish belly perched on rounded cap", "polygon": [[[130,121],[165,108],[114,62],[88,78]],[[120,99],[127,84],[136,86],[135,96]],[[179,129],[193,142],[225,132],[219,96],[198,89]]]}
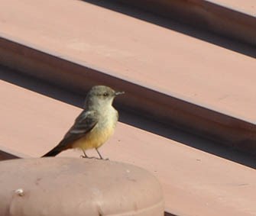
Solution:
{"label": "small grey-brown bird with yellowish belly perched on rounded cap", "polygon": [[63,140],[44,156],[56,156],[63,150],[80,148],[84,157],[88,157],[86,150],[96,149],[100,159],[103,159],[98,148],[114,133],[118,111],[112,107],[112,102],[116,95],[123,93],[115,92],[104,85],[93,86],[86,95],[85,109],[76,118]]}

